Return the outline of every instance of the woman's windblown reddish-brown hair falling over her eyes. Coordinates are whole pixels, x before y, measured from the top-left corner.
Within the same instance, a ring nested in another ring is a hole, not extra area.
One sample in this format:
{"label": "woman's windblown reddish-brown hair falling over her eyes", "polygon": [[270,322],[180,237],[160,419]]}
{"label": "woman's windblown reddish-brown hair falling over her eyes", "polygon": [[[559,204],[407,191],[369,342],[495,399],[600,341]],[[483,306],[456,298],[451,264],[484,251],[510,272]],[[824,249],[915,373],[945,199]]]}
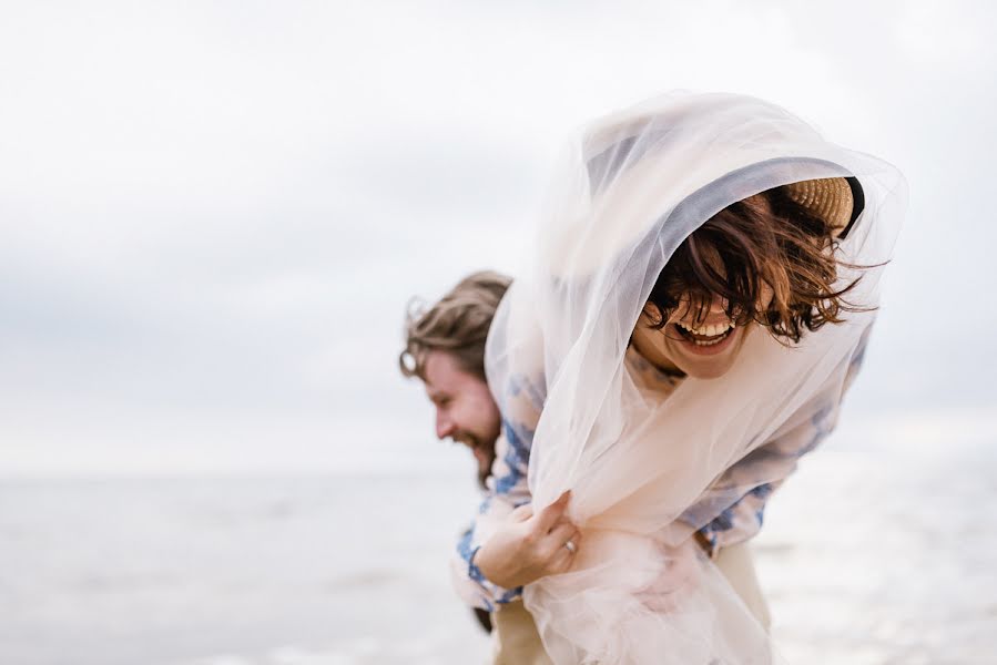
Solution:
{"label": "woman's windblown reddish-brown hair falling over her eyes", "polygon": [[[689,236],[659,275],[648,299],[661,314],[654,327],[686,310],[704,320],[720,296],[737,325],[754,320],[776,339],[798,342],[804,330],[842,323],[843,313],[868,310],[845,299],[861,276],[837,288],[835,282],[840,266],[873,266],[836,258],[833,231],[782,187],[731,204]],[[767,289],[772,301],[760,309]]]}

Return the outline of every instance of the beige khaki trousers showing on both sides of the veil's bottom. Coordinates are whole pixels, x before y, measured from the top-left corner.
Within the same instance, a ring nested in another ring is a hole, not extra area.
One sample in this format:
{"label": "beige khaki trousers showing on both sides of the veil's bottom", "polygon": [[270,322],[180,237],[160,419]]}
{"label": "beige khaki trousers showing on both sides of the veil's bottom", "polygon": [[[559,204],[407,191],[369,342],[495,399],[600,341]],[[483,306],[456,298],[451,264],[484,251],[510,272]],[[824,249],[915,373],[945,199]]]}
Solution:
{"label": "beige khaki trousers showing on both sides of the veil's bottom", "polygon": [[[769,604],[759,586],[747,543],[722,549],[713,563],[767,631],[772,623]],[[533,617],[522,602],[500,605],[491,615],[491,623],[495,627],[495,665],[552,665],[543,651]]]}

